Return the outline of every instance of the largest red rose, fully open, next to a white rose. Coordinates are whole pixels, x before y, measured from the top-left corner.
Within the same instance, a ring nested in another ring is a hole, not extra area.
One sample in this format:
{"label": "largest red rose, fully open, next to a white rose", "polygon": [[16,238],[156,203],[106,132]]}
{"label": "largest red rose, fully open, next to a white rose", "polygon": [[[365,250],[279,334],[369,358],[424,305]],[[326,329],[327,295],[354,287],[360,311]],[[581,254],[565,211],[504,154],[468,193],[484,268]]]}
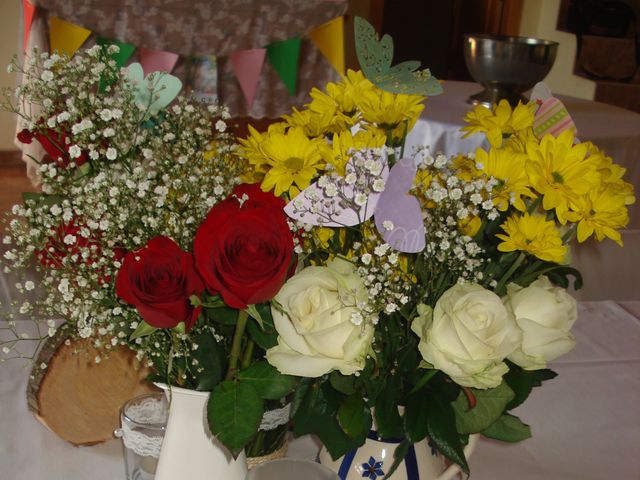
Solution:
{"label": "largest red rose, fully open, next to a white rose", "polygon": [[287,278],[293,236],[285,202],[259,185],[239,185],[214,206],[193,243],[196,267],[208,290],[245,309],[271,300]]}

